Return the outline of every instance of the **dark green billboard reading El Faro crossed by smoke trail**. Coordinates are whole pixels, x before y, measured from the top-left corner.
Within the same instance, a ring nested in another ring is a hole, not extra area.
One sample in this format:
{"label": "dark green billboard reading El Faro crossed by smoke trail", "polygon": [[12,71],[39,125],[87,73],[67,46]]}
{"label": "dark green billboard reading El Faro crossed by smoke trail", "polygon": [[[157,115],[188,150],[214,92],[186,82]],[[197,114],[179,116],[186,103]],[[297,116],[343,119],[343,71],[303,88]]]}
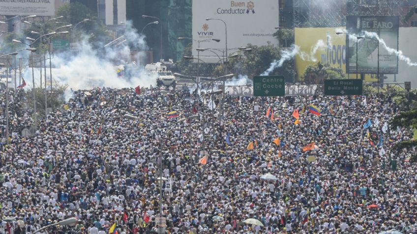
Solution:
{"label": "dark green billboard reading El Faro crossed by smoke trail", "polygon": [[398,50],[398,24],[397,16],[347,16],[347,31],[364,37],[346,37],[348,73],[377,74],[379,45],[379,73],[397,74],[397,55],[389,54],[370,33],[376,33],[388,47]]}

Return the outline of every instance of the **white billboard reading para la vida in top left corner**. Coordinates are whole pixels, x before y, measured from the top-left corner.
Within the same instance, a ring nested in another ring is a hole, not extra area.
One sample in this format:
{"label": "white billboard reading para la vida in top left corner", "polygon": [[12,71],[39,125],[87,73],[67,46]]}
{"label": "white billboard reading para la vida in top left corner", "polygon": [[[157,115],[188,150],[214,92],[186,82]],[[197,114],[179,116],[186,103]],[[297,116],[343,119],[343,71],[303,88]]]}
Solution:
{"label": "white billboard reading para la vida in top left corner", "polygon": [[0,15],[55,15],[55,0],[2,0]]}

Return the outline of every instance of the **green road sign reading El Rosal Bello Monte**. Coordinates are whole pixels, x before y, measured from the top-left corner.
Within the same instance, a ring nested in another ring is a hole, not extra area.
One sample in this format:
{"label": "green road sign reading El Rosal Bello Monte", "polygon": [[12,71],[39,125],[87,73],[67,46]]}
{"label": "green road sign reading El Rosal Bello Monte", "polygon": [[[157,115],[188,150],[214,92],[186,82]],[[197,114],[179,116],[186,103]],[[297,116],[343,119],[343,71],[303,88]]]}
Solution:
{"label": "green road sign reading El Rosal Bello Monte", "polygon": [[362,95],[361,79],[326,79],[325,95]]}

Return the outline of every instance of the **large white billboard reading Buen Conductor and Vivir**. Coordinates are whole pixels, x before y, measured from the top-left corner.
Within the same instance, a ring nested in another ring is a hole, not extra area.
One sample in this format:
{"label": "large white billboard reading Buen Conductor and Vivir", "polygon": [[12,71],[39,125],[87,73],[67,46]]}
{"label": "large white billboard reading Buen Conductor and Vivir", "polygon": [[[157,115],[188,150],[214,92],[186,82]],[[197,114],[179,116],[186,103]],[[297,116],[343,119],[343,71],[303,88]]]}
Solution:
{"label": "large white billboard reading Buen Conductor and Vivir", "polygon": [[[197,57],[199,46],[213,49],[212,52],[200,52],[199,57],[205,62],[216,63],[249,43],[257,46],[267,45],[268,41],[277,44],[272,34],[278,26],[278,11],[278,0],[193,0],[193,55]],[[226,33],[228,52],[225,51]]]}

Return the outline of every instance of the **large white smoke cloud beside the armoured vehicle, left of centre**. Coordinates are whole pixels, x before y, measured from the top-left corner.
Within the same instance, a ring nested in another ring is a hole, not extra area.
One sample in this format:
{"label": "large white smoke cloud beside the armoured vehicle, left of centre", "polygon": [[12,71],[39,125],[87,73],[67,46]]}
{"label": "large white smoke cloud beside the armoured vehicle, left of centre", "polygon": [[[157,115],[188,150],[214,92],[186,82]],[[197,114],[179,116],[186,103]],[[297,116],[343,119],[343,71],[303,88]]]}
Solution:
{"label": "large white smoke cloud beside the armoured vehicle, left of centre", "polygon": [[[156,85],[156,79],[147,76],[143,69],[134,64],[128,65],[133,68],[130,78],[126,76],[118,77],[118,65],[120,63],[123,64],[124,59],[130,57],[132,52],[130,48],[135,48],[138,51],[147,50],[144,36],[138,34],[136,29],[132,27],[131,22],[126,23],[124,35],[127,41],[117,47],[103,48],[105,55],[93,50],[88,42],[88,36],[85,36],[78,45],[79,52],[76,55],[59,53],[52,58],[53,67],[56,67],[52,69],[53,79],[58,83],[67,84],[73,90],[91,89],[94,87],[127,88],[138,85],[141,87]],[[144,54],[140,53],[137,56],[145,57]],[[124,68],[126,72],[126,66]],[[36,72],[36,70],[39,70],[35,69],[35,82],[38,85],[39,72]],[[23,76],[25,80],[31,81],[31,69],[26,69]],[[47,72],[47,77],[49,81],[49,71]],[[31,82],[27,83],[31,84]],[[70,95],[70,91],[68,95]]]}

